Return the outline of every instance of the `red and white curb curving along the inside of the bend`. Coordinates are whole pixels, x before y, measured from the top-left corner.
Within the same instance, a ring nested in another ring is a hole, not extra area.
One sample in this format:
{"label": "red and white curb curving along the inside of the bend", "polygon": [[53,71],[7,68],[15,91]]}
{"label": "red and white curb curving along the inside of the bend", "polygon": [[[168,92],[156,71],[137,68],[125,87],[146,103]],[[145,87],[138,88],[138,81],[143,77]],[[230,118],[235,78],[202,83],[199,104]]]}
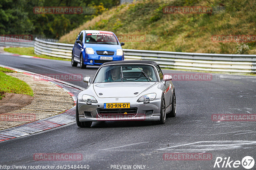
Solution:
{"label": "red and white curb curving along the inside of the bend", "polygon": [[[31,75],[31,76],[34,76],[34,75],[40,76],[40,74],[36,74],[36,73],[32,73],[32,72],[12,68],[12,67],[7,67],[7,66],[3,66],[3,65],[0,65],[0,67],[9,68],[14,71],[21,72],[21,73]],[[42,80],[45,80],[45,76],[44,75],[41,75],[41,76],[42,76]],[[84,89],[79,86],[77,86],[77,87],[79,87],[79,89],[75,88],[75,87],[71,87],[71,86],[67,85],[67,83],[65,83],[64,81],[58,81],[51,77],[49,77],[49,80],[47,80],[47,81],[50,81],[52,84],[55,84],[56,86],[62,88],[66,92],[68,92],[68,94],[70,96],[72,96],[75,104],[76,104],[76,98],[77,98],[78,93]],[[27,136],[29,134],[33,134],[33,133],[40,132],[40,131],[49,130],[49,129],[59,127],[59,126],[65,125],[65,124],[69,124],[69,123],[72,123],[75,121],[76,121],[76,107],[74,106],[71,109],[66,110],[66,111],[64,111],[58,115],[52,116],[52,117],[47,117],[47,118],[44,118],[44,119],[41,119],[41,120],[38,120],[35,122],[31,122],[28,124],[22,124],[22,125],[13,127],[13,128],[1,130],[0,131],[0,142],[9,140],[9,139],[13,139],[13,138]]]}

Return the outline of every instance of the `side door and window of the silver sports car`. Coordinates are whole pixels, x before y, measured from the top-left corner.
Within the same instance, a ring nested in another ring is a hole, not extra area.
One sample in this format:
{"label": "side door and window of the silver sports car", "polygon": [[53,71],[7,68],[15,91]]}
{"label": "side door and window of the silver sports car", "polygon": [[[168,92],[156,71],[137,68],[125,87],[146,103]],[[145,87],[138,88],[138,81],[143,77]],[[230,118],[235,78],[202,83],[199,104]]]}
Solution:
{"label": "side door and window of the silver sports car", "polygon": [[[157,72],[159,74],[159,77],[160,77],[160,81],[164,81],[164,74],[161,70],[161,68],[159,66],[156,66],[156,69],[157,69]],[[171,100],[171,97],[172,97],[172,84],[171,84],[171,81],[166,81],[165,84],[163,83],[164,85],[164,100],[165,100],[165,107],[169,107],[172,100]]]}

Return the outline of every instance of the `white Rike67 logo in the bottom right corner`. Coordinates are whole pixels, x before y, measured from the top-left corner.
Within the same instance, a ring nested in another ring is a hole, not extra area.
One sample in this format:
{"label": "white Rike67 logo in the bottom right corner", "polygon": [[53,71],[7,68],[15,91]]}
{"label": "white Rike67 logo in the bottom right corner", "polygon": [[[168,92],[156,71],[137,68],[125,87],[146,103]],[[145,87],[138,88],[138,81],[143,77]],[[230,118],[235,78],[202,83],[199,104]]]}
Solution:
{"label": "white Rike67 logo in the bottom right corner", "polygon": [[217,157],[214,163],[214,168],[238,168],[241,165],[245,169],[251,169],[254,166],[254,159],[251,156],[245,156],[242,161],[240,160],[232,160],[230,157],[225,157],[224,159],[221,157]]}

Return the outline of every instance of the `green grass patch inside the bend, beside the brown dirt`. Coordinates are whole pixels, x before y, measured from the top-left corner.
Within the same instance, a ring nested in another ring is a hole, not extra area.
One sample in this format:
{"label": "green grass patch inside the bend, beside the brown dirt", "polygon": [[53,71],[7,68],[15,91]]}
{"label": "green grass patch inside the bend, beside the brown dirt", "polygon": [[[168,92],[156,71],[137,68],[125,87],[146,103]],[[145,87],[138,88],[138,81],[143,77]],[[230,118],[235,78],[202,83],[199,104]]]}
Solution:
{"label": "green grass patch inside the bend, beside the brown dirt", "polygon": [[[24,81],[6,75],[4,72],[14,72],[13,70],[0,67],[0,91],[4,93],[17,93],[33,96],[33,90]],[[0,95],[0,100],[4,95]]]}

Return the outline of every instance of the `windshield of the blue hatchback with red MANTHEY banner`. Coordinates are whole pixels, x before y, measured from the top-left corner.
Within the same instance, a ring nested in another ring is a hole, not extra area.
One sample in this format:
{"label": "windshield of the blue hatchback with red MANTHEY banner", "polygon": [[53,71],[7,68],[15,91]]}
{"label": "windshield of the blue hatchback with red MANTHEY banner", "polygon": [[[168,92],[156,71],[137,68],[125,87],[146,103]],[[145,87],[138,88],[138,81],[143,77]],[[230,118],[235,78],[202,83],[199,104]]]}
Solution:
{"label": "windshield of the blue hatchback with red MANTHEY banner", "polygon": [[85,43],[118,45],[116,37],[113,34],[105,33],[87,33]]}

